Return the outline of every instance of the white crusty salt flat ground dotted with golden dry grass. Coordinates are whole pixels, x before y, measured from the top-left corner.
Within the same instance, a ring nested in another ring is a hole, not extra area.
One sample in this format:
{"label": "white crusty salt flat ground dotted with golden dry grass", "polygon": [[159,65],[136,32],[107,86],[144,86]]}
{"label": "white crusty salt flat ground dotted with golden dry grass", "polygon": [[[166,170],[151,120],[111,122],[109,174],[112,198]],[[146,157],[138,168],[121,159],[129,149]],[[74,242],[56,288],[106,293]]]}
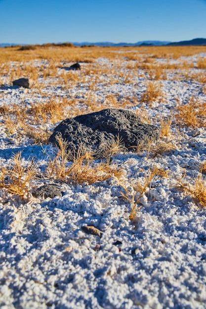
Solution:
{"label": "white crusty salt flat ground dotted with golden dry grass", "polygon": [[[59,173],[53,128],[104,108],[160,140]],[[2,48],[0,112],[1,309],[206,308],[206,47]],[[35,197],[45,184],[62,196]]]}

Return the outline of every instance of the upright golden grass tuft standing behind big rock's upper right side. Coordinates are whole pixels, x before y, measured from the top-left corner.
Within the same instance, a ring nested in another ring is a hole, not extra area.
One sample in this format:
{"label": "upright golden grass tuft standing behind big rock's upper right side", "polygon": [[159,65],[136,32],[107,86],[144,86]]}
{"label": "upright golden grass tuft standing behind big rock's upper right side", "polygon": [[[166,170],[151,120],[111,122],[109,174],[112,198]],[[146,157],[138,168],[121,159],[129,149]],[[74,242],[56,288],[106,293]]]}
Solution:
{"label": "upright golden grass tuft standing behind big rock's upper right side", "polygon": [[161,85],[157,84],[157,82],[149,81],[147,84],[147,90],[143,93],[140,102],[146,102],[152,106],[154,101],[162,100],[163,98],[164,94],[161,90]]}

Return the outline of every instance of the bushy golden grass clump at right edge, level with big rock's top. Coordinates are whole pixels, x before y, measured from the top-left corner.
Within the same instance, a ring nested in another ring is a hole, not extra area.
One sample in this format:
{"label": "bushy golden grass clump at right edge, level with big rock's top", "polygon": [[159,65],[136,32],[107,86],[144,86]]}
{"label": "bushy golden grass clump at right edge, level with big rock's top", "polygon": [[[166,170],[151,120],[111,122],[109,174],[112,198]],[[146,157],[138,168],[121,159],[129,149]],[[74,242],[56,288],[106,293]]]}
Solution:
{"label": "bushy golden grass clump at right edge, level with big rock's top", "polygon": [[180,104],[177,100],[176,120],[186,126],[201,127],[206,126],[206,103],[201,103],[191,97],[186,104]]}

